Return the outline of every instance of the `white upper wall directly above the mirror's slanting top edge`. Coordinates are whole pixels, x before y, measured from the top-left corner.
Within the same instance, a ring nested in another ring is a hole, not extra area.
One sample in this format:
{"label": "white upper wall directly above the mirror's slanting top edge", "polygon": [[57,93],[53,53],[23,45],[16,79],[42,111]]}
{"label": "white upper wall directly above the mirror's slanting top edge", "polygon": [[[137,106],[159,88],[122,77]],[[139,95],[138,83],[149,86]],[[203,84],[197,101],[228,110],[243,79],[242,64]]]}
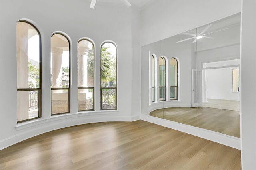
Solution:
{"label": "white upper wall directly above the mirror's slanting top edge", "polygon": [[241,11],[241,0],[156,0],[141,12],[146,45]]}

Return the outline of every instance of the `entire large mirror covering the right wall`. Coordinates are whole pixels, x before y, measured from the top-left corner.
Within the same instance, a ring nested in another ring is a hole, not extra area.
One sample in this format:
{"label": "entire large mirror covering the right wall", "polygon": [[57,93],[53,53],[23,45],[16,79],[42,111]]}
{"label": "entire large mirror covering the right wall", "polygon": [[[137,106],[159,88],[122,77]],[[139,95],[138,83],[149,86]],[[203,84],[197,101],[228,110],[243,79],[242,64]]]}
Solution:
{"label": "entire large mirror covering the right wall", "polygon": [[240,138],[240,18],[143,46],[142,113]]}

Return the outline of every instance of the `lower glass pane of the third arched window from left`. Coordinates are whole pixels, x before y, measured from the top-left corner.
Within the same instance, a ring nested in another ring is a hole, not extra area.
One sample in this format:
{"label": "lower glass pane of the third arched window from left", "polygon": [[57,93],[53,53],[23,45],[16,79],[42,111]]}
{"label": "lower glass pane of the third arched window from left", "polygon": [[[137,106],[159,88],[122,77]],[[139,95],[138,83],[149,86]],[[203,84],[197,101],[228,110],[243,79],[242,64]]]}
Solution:
{"label": "lower glass pane of the third arched window from left", "polygon": [[78,111],[93,110],[93,89],[78,89]]}

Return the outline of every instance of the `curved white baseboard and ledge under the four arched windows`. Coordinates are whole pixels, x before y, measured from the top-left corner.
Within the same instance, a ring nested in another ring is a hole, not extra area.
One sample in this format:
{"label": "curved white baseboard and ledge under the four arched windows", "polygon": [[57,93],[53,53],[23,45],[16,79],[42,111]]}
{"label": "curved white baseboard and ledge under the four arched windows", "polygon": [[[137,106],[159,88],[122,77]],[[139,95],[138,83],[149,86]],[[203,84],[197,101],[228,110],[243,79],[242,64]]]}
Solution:
{"label": "curved white baseboard and ledge under the four arched windows", "polygon": [[15,128],[17,134],[0,140],[0,150],[12,146],[18,142],[32,138],[39,134],[57,130],[60,128],[82,125],[87,123],[111,122],[111,121],[136,121],[140,119],[140,115],[133,117],[119,116],[118,111],[105,111],[103,114],[94,113],[78,113],[54,116],[49,119],[38,119],[30,122],[19,123]]}

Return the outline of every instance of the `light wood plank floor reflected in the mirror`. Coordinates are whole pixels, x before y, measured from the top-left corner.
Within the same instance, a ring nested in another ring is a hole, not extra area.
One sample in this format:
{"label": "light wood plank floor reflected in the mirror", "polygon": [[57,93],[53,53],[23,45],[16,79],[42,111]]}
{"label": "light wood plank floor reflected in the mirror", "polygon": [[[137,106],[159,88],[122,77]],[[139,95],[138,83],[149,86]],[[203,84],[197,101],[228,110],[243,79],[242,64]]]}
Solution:
{"label": "light wood plank floor reflected in the mirror", "polygon": [[239,111],[210,107],[171,107],[152,111],[150,115],[240,138]]}

